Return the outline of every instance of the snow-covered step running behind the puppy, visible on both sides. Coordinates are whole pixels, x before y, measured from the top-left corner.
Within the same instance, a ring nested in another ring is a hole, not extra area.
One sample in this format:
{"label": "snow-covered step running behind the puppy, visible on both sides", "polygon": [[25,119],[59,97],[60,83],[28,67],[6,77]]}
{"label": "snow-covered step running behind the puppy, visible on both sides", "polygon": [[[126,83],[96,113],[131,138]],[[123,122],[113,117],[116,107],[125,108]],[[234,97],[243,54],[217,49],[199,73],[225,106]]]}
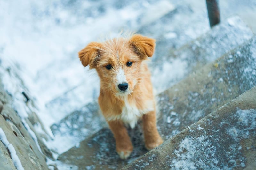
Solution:
{"label": "snow-covered step running behind the puppy, visible on both sides", "polygon": [[[168,14],[168,16],[170,15]],[[159,51],[159,53],[156,52],[155,58],[153,57],[153,61],[149,63],[152,71],[152,82],[156,91],[162,92],[196,70],[197,67],[214,61],[244,41],[249,40],[252,35],[248,26],[240,18],[234,16],[215,26],[195,41],[191,41],[172,52],[171,55],[170,51],[166,49],[160,50],[162,52]],[[162,38],[162,40],[165,41],[166,38]],[[168,44],[167,41],[165,43]],[[166,48],[166,45],[156,46],[156,51],[159,48]],[[169,55],[164,55],[163,52],[169,53]],[[63,115],[68,115],[83,107],[85,103],[97,100],[98,83],[89,78],[84,79],[83,83],[48,102],[46,106],[52,113],[54,110],[58,110]],[[91,88],[91,93],[81,95],[85,88]],[[57,116],[55,117],[57,118]],[[63,117],[58,119],[61,118]]]}

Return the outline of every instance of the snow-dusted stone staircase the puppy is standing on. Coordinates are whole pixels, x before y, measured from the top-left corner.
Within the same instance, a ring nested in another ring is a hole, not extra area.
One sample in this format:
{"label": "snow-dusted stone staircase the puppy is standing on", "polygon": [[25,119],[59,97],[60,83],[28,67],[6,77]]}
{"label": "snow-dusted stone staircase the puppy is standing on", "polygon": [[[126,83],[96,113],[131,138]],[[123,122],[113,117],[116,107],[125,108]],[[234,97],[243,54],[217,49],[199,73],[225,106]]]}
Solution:
{"label": "snow-dusted stone staircase the puppy is standing on", "polygon": [[[150,65],[153,77],[159,78],[153,84],[166,89],[156,96],[164,144],[148,152],[139,122],[135,129],[128,129],[134,151],[121,160],[97,102],[91,102],[51,126],[56,138],[73,142],[58,161],[78,169],[242,169],[256,160],[256,37],[236,16],[201,36],[195,33],[198,38],[167,31],[167,27],[159,34],[152,32],[167,18],[175,23],[179,19],[175,14],[184,9],[177,7],[138,29],[158,40]],[[192,23],[193,18],[188,21]],[[185,31],[186,24],[182,28],[177,24],[173,28]],[[180,41],[174,43],[176,39]],[[182,74],[172,74],[172,70]],[[168,74],[160,75],[160,71]],[[65,95],[50,102],[51,106],[65,105]]]}

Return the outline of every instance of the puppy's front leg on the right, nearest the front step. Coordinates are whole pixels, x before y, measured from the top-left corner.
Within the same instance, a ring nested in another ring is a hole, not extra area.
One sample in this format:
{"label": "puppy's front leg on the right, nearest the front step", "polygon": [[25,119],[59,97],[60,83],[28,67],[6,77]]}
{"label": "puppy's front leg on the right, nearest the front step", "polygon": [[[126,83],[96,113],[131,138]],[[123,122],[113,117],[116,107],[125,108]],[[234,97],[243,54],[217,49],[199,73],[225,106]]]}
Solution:
{"label": "puppy's front leg on the right, nearest the front step", "polygon": [[156,127],[156,112],[150,111],[143,115],[143,131],[145,138],[145,146],[148,150],[155,148],[163,143]]}

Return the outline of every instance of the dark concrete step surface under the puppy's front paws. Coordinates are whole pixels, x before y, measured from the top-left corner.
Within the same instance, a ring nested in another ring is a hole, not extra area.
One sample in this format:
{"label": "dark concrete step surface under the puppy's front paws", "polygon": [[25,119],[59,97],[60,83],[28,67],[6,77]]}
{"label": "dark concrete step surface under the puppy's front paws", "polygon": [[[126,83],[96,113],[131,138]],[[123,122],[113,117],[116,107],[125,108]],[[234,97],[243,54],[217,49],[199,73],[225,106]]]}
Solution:
{"label": "dark concrete step surface under the puppy's front paws", "polygon": [[76,147],[61,154],[61,162],[76,165],[79,169],[120,169],[145,154],[143,134],[140,126],[129,129],[132,144],[136,148],[130,159],[122,160],[116,153],[115,139],[108,128],[101,129],[93,136],[80,142]]}

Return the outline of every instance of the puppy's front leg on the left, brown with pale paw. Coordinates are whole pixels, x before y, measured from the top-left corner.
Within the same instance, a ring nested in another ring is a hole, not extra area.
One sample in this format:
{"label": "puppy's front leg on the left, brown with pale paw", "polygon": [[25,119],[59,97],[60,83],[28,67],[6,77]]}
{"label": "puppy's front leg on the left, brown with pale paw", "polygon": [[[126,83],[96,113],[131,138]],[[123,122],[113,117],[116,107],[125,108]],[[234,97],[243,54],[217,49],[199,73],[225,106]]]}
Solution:
{"label": "puppy's front leg on the left, brown with pale paw", "polygon": [[130,156],[133,146],[123,122],[120,120],[108,121],[108,125],[116,140],[116,152],[121,159],[126,159]]}

